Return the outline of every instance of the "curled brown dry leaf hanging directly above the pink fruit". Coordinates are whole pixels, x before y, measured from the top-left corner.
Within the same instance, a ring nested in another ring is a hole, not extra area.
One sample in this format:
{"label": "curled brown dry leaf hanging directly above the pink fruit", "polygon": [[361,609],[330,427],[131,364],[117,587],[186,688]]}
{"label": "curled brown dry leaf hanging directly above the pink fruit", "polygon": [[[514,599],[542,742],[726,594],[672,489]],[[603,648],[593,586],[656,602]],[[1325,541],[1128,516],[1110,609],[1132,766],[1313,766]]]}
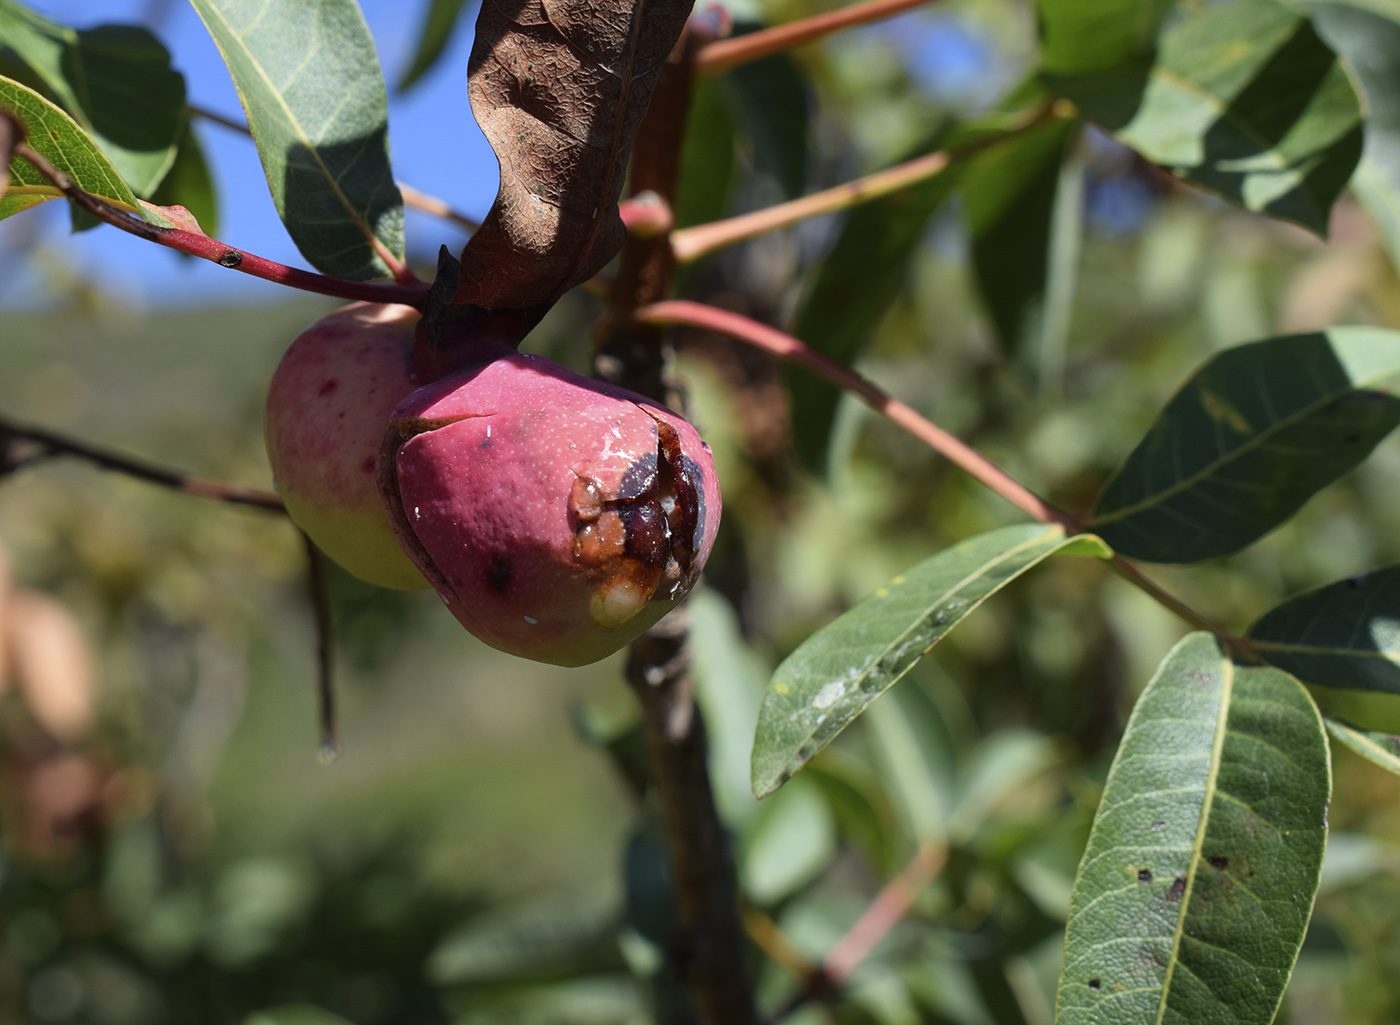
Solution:
{"label": "curled brown dry leaf hanging directly above the pink fruit", "polygon": [[501,188],[462,251],[458,302],[533,322],[610,260],[631,140],[689,0],[483,0],[472,112]]}

